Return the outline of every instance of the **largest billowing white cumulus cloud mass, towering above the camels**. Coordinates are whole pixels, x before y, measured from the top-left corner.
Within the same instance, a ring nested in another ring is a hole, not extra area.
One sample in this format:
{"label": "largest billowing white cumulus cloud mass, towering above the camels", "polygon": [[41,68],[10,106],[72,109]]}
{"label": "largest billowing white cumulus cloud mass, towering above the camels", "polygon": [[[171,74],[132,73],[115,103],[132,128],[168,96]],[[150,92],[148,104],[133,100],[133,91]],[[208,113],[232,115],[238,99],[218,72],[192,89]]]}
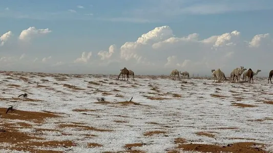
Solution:
{"label": "largest billowing white cumulus cloud mass, towering above the camels", "polygon": [[[216,68],[230,70],[240,65],[258,69],[260,67],[249,61],[261,57],[262,54],[254,55],[249,46],[256,46],[261,53],[266,51],[259,47],[264,44],[273,44],[273,42],[269,34],[257,35],[251,39],[250,42],[245,43],[241,38],[241,32],[237,30],[203,39],[200,39],[197,33],[176,37],[171,27],[165,25],[140,35],[136,41],[125,42],[114,52],[111,52],[110,49],[108,52],[100,51],[98,56],[101,60],[115,58],[139,70],[143,70],[143,66],[147,70],[177,68],[200,74],[209,73],[209,70]],[[245,58],[248,54],[251,56]],[[272,53],[267,52],[266,54]],[[119,55],[119,57],[113,55]]]}

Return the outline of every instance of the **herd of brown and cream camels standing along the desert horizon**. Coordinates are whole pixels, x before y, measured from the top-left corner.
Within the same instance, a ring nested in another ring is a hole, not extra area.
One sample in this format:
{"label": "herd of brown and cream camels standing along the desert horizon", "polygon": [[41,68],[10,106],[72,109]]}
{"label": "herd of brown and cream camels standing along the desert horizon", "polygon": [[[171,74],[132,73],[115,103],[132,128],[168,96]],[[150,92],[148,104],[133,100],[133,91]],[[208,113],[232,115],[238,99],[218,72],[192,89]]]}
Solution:
{"label": "herd of brown and cream camels standing along the desert horizon", "polygon": [[[235,82],[235,77],[236,77],[237,82],[240,82],[240,77],[243,74],[243,81],[246,80],[246,78],[248,78],[248,82],[250,83],[252,80],[252,83],[253,83],[253,77],[255,75],[257,75],[259,72],[261,72],[261,70],[259,70],[259,69],[256,72],[253,72],[253,70],[251,68],[249,68],[247,70],[243,66],[240,66],[240,67],[235,68],[230,73],[230,81],[232,81],[232,78],[233,78],[233,82]],[[184,71],[181,73],[181,71],[178,71],[177,69],[174,69],[171,72],[170,76],[175,78],[175,75],[177,75],[177,79],[179,79],[179,74],[181,74],[183,77],[187,76],[187,78],[190,78],[190,74],[187,71]],[[123,75],[124,75],[124,80],[125,80],[125,75],[127,75],[127,81],[129,80],[129,75],[133,75],[133,80],[135,80],[135,73],[132,70],[128,70],[126,67],[124,67],[123,69],[120,70],[120,73],[119,73],[117,79],[119,79],[120,75],[122,75],[122,80],[123,80]],[[224,74],[224,72],[222,72],[220,70],[220,68],[218,68],[217,70],[212,69],[212,75],[214,77],[214,82],[215,81],[221,82],[222,79],[225,79],[225,81],[226,81],[225,74]],[[271,82],[272,76],[273,76],[273,70],[270,70],[267,83],[269,83],[269,80]],[[239,80],[238,80],[238,78],[239,78]],[[272,82],[271,82],[271,84],[272,84]]]}

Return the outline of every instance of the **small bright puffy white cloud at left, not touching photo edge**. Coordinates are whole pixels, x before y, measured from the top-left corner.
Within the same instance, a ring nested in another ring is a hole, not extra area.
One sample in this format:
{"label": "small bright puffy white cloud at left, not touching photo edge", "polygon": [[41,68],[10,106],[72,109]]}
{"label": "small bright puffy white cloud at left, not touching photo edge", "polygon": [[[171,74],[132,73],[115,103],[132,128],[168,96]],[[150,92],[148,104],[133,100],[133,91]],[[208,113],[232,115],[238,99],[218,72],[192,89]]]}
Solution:
{"label": "small bright puffy white cloud at left, not touching photo edge", "polygon": [[19,36],[19,40],[29,41],[31,38],[36,36],[46,35],[52,31],[47,29],[36,29],[35,27],[30,27],[29,29],[23,30]]}

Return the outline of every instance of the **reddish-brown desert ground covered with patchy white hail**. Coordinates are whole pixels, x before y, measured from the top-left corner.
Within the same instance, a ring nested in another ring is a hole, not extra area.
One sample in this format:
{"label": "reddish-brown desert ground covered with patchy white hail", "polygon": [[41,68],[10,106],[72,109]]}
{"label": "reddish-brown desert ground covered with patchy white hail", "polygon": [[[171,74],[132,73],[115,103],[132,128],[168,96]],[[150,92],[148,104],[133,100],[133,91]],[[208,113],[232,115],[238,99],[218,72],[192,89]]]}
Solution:
{"label": "reddish-brown desert ground covered with patchy white hail", "polygon": [[211,77],[0,76],[0,152],[273,151],[273,85],[266,78],[251,84]]}

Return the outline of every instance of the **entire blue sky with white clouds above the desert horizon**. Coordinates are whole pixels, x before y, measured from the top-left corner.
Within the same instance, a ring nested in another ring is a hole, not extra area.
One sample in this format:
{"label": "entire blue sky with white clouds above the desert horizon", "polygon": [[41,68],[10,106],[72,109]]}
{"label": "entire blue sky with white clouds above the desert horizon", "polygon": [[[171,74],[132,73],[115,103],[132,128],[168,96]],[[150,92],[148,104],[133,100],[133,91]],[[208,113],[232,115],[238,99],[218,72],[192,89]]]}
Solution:
{"label": "entire blue sky with white clouds above the desert horizon", "polygon": [[271,0],[0,0],[0,70],[267,77]]}

